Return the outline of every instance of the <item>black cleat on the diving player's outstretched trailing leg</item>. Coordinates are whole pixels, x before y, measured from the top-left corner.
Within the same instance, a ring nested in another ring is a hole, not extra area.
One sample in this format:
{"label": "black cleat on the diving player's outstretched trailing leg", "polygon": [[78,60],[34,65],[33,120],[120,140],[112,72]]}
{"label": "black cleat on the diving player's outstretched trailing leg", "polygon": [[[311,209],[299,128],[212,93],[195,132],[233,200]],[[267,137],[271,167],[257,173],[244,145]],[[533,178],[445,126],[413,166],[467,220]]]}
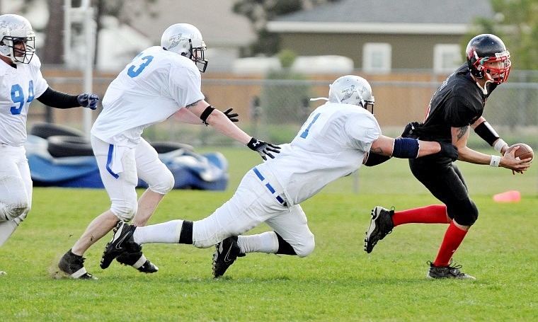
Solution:
{"label": "black cleat on the diving player's outstretched trailing leg", "polygon": [[106,244],[103,257],[101,258],[101,268],[103,270],[108,268],[112,260],[122,253],[137,253],[141,251],[141,246],[135,243],[132,238],[135,229],[137,229],[137,226],[127,224],[121,220],[116,224],[112,240]]}

